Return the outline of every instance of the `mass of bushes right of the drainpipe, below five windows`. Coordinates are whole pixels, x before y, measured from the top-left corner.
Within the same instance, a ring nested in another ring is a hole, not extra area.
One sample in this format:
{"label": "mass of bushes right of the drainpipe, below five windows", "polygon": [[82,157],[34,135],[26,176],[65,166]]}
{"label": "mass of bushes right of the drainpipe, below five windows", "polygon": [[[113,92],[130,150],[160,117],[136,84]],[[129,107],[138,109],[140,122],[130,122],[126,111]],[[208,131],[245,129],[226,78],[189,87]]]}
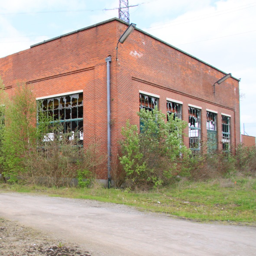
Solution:
{"label": "mass of bushes right of the drainpipe, below five windows", "polygon": [[[207,180],[227,175],[255,175],[256,147],[239,144],[230,152],[207,153],[201,142],[196,154],[182,142],[187,123],[174,116],[166,122],[159,110],[140,110],[141,129],[136,125],[123,127],[119,157],[125,185],[130,188],[152,188],[168,185],[177,178]],[[236,152],[232,155],[231,152]],[[121,175],[120,175],[121,176]]]}

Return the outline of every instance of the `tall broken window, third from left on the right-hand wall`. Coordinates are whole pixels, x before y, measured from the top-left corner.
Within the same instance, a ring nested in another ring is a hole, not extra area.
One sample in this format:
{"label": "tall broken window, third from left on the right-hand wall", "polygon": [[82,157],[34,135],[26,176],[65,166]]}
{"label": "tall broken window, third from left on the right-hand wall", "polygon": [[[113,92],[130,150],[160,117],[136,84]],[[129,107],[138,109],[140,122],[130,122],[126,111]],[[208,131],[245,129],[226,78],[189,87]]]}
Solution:
{"label": "tall broken window, third from left on the right-hand wall", "polygon": [[188,107],[189,147],[194,152],[199,151],[201,141],[201,110]]}

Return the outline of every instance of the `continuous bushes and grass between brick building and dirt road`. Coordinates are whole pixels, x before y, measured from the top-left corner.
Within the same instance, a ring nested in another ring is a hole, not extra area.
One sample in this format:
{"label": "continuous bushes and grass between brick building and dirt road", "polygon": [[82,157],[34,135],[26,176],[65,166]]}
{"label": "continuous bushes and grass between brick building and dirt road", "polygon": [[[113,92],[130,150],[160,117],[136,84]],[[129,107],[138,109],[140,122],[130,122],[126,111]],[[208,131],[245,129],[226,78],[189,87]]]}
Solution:
{"label": "continuous bushes and grass between brick building and dirt road", "polygon": [[105,161],[97,142],[84,149],[70,139],[72,133],[63,133],[54,117],[37,119],[34,99],[31,88],[20,84],[11,101],[0,81],[0,174],[8,180],[0,189],[96,199],[194,220],[256,224],[256,147],[238,145],[234,156],[204,153],[201,143],[201,153],[192,155],[182,142],[187,123],[174,116],[166,122],[161,111],[141,110],[141,132],[129,122],[122,130],[123,172],[117,184],[125,185],[107,190],[93,182],[95,169]]}

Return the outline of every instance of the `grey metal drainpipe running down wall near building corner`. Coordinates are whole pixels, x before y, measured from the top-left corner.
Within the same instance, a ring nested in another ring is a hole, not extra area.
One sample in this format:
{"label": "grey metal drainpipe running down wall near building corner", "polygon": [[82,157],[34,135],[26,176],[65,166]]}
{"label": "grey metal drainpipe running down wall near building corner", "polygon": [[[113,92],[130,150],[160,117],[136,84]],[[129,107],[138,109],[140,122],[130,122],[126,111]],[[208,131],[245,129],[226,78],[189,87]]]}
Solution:
{"label": "grey metal drainpipe running down wall near building corner", "polygon": [[110,62],[111,56],[108,56],[105,61],[107,62],[107,187],[111,188],[111,111],[110,111]]}

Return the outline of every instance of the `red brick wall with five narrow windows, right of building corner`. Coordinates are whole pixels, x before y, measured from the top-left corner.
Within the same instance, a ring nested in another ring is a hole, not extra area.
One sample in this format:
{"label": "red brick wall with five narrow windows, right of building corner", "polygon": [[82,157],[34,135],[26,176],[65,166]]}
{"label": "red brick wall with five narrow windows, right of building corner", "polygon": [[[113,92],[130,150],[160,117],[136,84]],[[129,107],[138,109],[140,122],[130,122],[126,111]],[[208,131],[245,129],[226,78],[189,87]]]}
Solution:
{"label": "red brick wall with five narrow windows, right of building corner", "polygon": [[[239,82],[236,79],[229,78],[217,85],[214,96],[212,85],[226,74],[138,30],[119,46],[118,59],[119,89],[125,88],[126,91],[119,94],[119,102],[126,104],[122,107],[123,113],[120,110],[119,117],[124,116],[133,120],[133,123],[139,123],[136,116],[139,110],[139,90],[147,91],[160,96],[159,109],[163,112],[166,111],[166,97],[182,101],[182,117],[186,121],[188,104],[202,107],[201,132],[204,141],[207,136],[206,109],[218,112],[219,142],[221,113],[230,115],[231,143],[240,143]],[[188,128],[186,131],[188,133]],[[184,140],[188,145],[188,137]]]}

